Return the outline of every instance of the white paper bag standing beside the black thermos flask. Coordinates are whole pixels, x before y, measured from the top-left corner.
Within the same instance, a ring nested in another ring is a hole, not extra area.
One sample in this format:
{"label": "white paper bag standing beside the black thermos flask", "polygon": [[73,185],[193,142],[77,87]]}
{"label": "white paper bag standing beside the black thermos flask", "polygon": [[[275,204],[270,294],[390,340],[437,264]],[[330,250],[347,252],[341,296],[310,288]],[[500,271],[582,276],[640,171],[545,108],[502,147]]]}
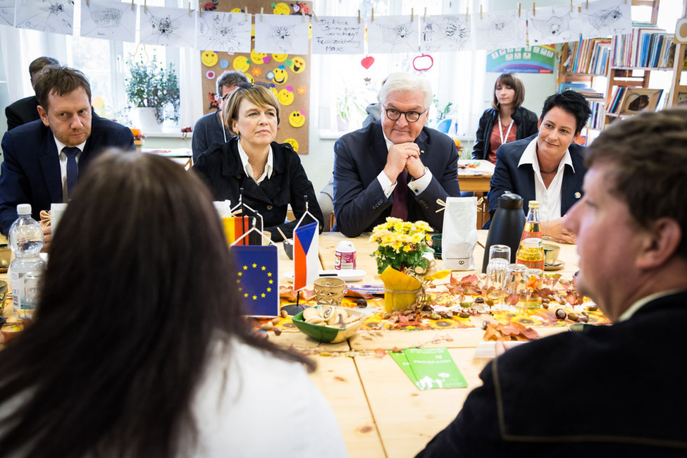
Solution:
{"label": "white paper bag standing beside the black thermos flask", "polygon": [[477,245],[477,198],[447,197],[441,258],[444,268],[471,271],[475,268],[472,252]]}

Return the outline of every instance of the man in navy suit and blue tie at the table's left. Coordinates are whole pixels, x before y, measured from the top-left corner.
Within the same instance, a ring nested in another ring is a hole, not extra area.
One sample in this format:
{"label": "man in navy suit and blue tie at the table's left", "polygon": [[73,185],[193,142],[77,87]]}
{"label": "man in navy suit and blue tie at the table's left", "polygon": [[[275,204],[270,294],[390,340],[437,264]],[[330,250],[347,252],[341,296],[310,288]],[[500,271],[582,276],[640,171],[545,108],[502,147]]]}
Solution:
{"label": "man in navy suit and blue tie at the table's left", "polygon": [[[68,202],[78,175],[106,147],[134,149],[129,128],[92,112],[91,88],[79,70],[51,67],[36,83],[41,120],[2,139],[0,230],[7,234],[17,204],[38,220],[51,203]],[[49,229],[47,235],[49,234]]]}

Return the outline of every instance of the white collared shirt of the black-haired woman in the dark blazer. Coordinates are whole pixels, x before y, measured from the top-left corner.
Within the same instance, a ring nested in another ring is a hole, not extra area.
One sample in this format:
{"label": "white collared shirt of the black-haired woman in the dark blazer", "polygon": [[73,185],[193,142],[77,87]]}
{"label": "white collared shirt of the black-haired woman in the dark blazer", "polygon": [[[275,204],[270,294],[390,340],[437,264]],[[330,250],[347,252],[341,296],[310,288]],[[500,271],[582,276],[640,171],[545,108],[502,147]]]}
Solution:
{"label": "white collared shirt of the black-haired woman in the dark blazer", "polygon": [[527,145],[525,151],[523,151],[522,156],[520,156],[520,162],[518,167],[524,164],[531,164],[534,169],[534,190],[537,202],[539,202],[539,218],[540,221],[551,221],[556,218],[560,218],[561,215],[561,194],[563,185],[563,172],[565,166],[570,166],[573,173],[575,168],[572,165],[572,159],[570,157],[570,151],[565,150],[565,156],[563,156],[562,161],[558,164],[558,171],[554,176],[551,184],[547,188],[544,185],[544,180],[541,178],[541,171],[539,168],[539,161],[537,159],[537,138],[532,140],[530,144]]}

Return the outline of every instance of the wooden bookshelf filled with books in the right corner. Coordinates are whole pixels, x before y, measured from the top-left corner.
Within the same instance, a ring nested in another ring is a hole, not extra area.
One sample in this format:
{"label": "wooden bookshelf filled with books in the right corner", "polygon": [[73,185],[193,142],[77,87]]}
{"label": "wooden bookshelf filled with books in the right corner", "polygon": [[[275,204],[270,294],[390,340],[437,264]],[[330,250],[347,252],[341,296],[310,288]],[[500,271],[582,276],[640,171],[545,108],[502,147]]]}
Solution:
{"label": "wooden bookshelf filled with books in the right corner", "polygon": [[[634,23],[631,34],[565,43],[559,53],[558,87],[576,89],[590,101],[593,114],[585,133],[591,137],[614,120],[632,116],[622,104],[624,92],[657,102],[656,92],[650,90],[652,73],[670,73],[669,87],[657,87],[667,92],[661,94],[667,95],[665,106],[687,105],[687,84],[681,81],[687,46],[656,27],[660,0],[632,0],[632,6],[648,7],[649,17],[646,23]],[[687,16],[687,0],[682,1],[682,13]],[[580,84],[597,90],[575,87]]]}

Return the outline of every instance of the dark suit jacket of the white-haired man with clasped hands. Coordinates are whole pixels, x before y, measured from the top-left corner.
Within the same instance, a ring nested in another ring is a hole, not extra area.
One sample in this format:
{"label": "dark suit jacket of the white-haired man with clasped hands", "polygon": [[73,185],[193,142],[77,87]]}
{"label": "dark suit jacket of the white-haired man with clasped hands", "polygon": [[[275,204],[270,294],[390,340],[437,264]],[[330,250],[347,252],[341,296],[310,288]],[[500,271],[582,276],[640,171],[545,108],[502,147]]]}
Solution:
{"label": "dark suit jacket of the white-haired man with clasped hands", "polygon": [[[420,194],[408,191],[408,219],[427,221],[441,232],[444,213],[436,212],[440,208],[437,199],[445,202],[446,197],[460,196],[458,152],[450,137],[427,127],[422,129],[415,143],[424,151],[420,160],[433,176],[427,189]],[[347,237],[357,237],[391,216],[392,196],[385,196],[377,180],[388,154],[379,121],[336,141],[334,230],[340,230]]]}

